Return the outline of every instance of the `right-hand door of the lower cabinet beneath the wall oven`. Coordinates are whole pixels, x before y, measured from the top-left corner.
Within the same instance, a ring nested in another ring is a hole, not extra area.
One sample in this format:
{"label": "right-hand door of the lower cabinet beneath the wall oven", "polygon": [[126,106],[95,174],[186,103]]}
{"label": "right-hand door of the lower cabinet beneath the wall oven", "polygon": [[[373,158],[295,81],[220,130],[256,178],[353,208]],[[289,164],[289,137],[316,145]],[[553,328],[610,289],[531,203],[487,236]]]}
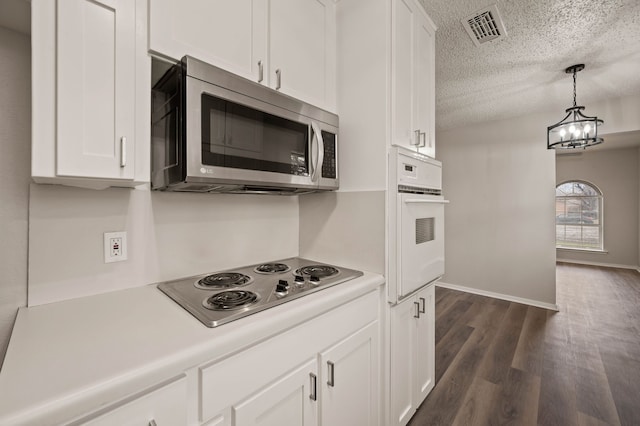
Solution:
{"label": "right-hand door of the lower cabinet beneath the wall oven", "polygon": [[417,297],[421,313],[416,321],[416,408],[435,385],[435,286],[421,290]]}

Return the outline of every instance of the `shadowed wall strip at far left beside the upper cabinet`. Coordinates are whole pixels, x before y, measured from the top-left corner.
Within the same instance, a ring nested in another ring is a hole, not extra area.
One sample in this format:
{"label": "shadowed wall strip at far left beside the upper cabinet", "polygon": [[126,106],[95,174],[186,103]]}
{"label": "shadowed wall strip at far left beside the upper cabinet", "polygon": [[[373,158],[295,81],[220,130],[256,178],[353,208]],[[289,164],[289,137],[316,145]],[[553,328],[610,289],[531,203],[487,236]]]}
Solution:
{"label": "shadowed wall strip at far left beside the upper cabinet", "polygon": [[31,155],[30,38],[0,27],[0,364],[27,302]]}

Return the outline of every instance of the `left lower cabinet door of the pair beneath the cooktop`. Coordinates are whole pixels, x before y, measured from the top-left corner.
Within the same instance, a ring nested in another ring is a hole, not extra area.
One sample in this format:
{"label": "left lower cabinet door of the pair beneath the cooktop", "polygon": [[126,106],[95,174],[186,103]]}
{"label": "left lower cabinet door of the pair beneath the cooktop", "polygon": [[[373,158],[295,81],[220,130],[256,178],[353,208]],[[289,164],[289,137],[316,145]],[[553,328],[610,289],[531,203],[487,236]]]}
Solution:
{"label": "left lower cabinet door of the pair beneath the cooktop", "polygon": [[234,405],[234,426],[317,425],[317,377],[318,364],[313,358]]}

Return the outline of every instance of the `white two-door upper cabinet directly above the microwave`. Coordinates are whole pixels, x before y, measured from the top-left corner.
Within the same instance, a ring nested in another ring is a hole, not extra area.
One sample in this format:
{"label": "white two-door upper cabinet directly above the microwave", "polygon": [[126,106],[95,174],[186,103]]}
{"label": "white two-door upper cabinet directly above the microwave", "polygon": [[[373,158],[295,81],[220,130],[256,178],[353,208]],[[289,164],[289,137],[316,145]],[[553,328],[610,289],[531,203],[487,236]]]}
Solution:
{"label": "white two-door upper cabinet directly above the microwave", "polygon": [[332,0],[149,1],[149,49],[190,55],[335,110]]}

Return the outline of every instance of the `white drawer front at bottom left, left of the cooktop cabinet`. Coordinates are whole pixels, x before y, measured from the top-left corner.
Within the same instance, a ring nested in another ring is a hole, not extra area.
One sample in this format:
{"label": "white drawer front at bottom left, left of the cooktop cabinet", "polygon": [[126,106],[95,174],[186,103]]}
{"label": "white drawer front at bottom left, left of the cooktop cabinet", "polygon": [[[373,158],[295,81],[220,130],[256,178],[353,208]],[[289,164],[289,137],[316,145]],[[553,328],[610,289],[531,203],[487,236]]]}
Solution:
{"label": "white drawer front at bottom left, left of the cooktop cabinet", "polygon": [[187,424],[187,379],[183,374],[172,381],[135,394],[69,426],[179,426]]}

